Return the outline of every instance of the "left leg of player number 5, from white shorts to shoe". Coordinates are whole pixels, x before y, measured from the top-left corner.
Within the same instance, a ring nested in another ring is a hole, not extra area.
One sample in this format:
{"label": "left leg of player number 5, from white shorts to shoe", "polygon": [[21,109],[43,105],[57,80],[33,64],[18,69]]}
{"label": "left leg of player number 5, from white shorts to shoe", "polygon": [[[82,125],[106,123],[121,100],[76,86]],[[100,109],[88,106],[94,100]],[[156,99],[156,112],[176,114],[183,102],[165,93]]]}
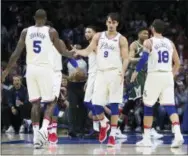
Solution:
{"label": "left leg of player number 5, from white shorts to shoe", "polygon": [[37,69],[32,69],[31,67],[27,68],[26,73],[26,83],[29,94],[29,101],[32,103],[31,109],[31,120],[33,125],[33,143],[35,148],[40,148],[40,143],[37,142],[37,133],[39,130],[40,122],[40,91],[39,86],[35,80],[35,72]]}

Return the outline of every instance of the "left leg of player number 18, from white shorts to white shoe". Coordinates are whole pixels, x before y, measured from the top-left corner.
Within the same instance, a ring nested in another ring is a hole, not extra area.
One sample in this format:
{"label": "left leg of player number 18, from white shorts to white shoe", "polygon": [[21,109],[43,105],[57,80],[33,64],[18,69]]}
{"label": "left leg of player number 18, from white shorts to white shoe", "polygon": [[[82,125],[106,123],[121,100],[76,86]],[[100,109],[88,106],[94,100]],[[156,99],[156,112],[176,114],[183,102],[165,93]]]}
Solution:
{"label": "left leg of player number 18, from white shorts to white shoe", "polygon": [[151,128],[153,124],[153,105],[157,101],[160,91],[162,80],[155,73],[148,73],[143,93],[144,102],[144,135],[143,140],[137,142],[137,146],[151,146]]}

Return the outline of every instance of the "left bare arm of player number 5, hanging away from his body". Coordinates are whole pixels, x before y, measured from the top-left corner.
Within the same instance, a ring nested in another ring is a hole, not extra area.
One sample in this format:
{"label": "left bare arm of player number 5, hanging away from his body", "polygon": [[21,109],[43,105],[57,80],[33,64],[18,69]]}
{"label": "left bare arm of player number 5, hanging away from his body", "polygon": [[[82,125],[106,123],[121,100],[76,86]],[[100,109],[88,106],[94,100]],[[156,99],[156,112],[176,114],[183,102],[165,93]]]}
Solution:
{"label": "left bare arm of player number 5, hanging away from his body", "polygon": [[2,80],[4,81],[4,79],[6,78],[6,76],[9,74],[12,66],[16,63],[16,61],[19,59],[24,47],[25,47],[25,37],[27,34],[27,28],[23,29],[19,38],[19,41],[17,43],[16,49],[14,50],[14,52],[12,53],[8,65],[6,67],[6,69],[4,70],[4,72],[2,73]]}

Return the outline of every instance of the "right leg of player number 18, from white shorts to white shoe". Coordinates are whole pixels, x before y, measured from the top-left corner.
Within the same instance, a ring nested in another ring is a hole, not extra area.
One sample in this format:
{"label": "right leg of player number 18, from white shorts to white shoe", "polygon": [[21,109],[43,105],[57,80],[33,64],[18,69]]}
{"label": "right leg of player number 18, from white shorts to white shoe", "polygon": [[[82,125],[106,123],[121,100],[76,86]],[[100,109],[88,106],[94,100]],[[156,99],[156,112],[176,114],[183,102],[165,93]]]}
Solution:
{"label": "right leg of player number 18, from white shorts to white shoe", "polygon": [[166,109],[174,129],[175,139],[172,142],[171,147],[177,148],[183,144],[184,140],[180,130],[179,116],[175,108],[173,75],[168,74],[166,75],[166,77],[167,77],[166,79],[167,85],[165,86],[165,88],[161,93],[160,104],[163,105],[164,108]]}

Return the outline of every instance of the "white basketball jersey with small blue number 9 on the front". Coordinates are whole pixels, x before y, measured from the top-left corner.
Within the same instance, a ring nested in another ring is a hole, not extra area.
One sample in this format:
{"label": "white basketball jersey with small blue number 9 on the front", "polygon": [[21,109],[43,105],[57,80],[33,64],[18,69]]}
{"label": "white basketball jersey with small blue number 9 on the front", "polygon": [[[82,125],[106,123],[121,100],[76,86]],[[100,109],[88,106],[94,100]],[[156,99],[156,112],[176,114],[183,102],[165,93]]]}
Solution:
{"label": "white basketball jersey with small blue number 9 on the front", "polygon": [[118,33],[114,38],[109,39],[106,32],[101,33],[97,46],[97,68],[99,70],[122,69],[120,36],[121,34]]}

